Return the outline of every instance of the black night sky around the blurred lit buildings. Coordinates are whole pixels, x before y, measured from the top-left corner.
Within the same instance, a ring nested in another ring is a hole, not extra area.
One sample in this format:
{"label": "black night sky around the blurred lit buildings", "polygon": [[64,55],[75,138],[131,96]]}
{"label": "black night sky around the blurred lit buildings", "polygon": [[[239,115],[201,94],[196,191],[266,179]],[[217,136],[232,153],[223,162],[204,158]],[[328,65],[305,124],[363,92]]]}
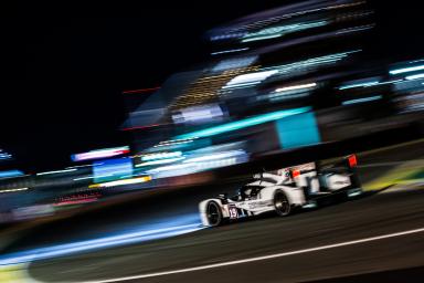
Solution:
{"label": "black night sky around the blurred lit buildings", "polygon": [[[128,144],[117,130],[125,119],[123,90],[160,85],[208,57],[208,29],[285,2],[159,1],[119,9],[119,17],[26,10],[2,19],[0,147],[36,170],[65,165],[72,153]],[[420,1],[372,2],[375,55],[420,56]]]}

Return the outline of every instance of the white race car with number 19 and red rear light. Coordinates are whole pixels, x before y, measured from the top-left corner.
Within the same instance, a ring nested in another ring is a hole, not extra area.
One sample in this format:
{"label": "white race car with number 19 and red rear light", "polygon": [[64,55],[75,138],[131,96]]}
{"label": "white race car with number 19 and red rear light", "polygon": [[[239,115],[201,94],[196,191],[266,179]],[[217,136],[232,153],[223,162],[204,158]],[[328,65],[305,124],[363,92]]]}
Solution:
{"label": "white race car with number 19 and red rear light", "polygon": [[237,190],[199,203],[203,226],[216,227],[264,213],[288,216],[295,208],[317,207],[319,200],[342,193],[362,193],[357,174],[357,157],[321,167],[317,163],[254,175],[254,181]]}

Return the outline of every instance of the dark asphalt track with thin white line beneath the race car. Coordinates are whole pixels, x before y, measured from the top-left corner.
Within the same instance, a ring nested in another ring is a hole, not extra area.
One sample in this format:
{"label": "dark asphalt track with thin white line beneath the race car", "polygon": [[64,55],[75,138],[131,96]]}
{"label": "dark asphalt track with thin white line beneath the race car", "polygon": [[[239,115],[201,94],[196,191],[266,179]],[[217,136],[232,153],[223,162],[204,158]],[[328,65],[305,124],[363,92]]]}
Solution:
{"label": "dark asphalt track with thin white line beneath the race car", "polygon": [[[418,144],[363,157],[362,164],[373,166],[362,169],[362,178],[374,178],[390,169],[391,163],[422,158],[423,151],[424,147]],[[199,192],[197,196],[202,198],[203,195]],[[172,198],[178,200],[177,195]],[[190,199],[190,203],[192,201]],[[176,202],[182,206],[180,213],[193,209],[189,202]],[[29,274],[43,282],[382,282],[385,279],[385,282],[422,282],[423,205],[424,190],[421,188],[389,188],[287,218],[257,219],[140,244],[38,261],[30,264]],[[104,214],[97,217],[100,220]],[[113,220],[110,216],[109,221]],[[80,230],[83,228],[86,228],[84,223]],[[55,237],[61,233],[73,237],[72,230],[61,231],[54,226],[36,234],[51,239],[41,235],[53,231],[56,231]],[[405,231],[410,232],[395,234]],[[266,258],[275,254],[280,256]],[[255,261],[244,262],[257,256],[259,259]],[[240,262],[232,264],[234,261]],[[199,266],[205,268],[195,270]],[[178,273],[172,273],[174,271]],[[165,274],[153,274],[158,272]]]}

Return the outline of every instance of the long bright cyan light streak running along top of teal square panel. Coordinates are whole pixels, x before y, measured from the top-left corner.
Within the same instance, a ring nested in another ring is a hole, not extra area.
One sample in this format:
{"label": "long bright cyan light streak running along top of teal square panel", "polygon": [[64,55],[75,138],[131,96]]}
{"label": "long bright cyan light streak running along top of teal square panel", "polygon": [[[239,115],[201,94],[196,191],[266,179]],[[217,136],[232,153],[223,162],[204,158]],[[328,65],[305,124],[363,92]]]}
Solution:
{"label": "long bright cyan light streak running along top of teal square panel", "polygon": [[223,124],[220,126],[210,127],[206,129],[201,129],[201,130],[197,130],[193,133],[183,134],[183,135],[177,136],[177,138],[186,139],[186,138],[209,137],[209,136],[220,135],[223,133],[233,132],[233,130],[264,124],[267,122],[280,119],[284,117],[292,116],[292,115],[305,113],[308,111],[310,111],[310,107],[301,107],[301,108],[295,108],[295,109],[285,109],[285,111],[267,113],[267,114],[250,117],[250,118],[242,119],[242,120],[236,120],[236,122]]}

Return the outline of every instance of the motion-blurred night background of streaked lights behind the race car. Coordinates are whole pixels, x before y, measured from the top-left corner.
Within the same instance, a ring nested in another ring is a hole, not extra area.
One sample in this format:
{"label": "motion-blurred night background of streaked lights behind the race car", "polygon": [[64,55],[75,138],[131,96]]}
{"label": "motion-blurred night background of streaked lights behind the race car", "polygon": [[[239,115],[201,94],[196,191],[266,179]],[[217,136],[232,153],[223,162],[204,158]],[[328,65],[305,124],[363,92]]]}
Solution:
{"label": "motion-blurred night background of streaked lights behind the race car", "polygon": [[4,265],[197,231],[264,169],[359,153],[370,191],[422,181],[416,1],[34,11],[1,28]]}

